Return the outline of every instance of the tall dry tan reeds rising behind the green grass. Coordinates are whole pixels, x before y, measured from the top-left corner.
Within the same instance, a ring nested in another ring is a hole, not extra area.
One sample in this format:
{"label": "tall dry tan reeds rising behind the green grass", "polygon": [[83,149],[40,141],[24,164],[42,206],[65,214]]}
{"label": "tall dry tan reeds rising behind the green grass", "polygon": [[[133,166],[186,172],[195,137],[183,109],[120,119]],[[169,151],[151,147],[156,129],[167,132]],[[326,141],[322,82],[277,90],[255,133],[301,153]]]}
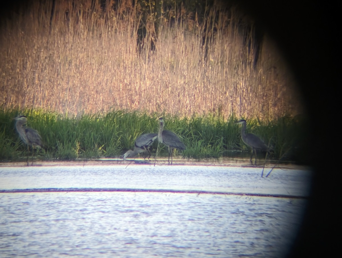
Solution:
{"label": "tall dry tan reeds rising behind the green grass", "polygon": [[[52,1],[35,1],[13,19],[2,20],[0,107],[70,115],[122,109],[265,120],[301,112],[291,72],[267,36],[253,68],[253,54],[237,26],[238,12],[228,16],[214,5],[202,23],[181,12],[184,19],[176,21],[186,22],[171,24],[170,17],[161,17],[158,32],[150,15],[148,43],[139,51],[144,10],[125,3],[102,10],[97,1],[93,6],[90,1],[56,1],[51,19]],[[155,34],[152,52],[149,42]]]}

